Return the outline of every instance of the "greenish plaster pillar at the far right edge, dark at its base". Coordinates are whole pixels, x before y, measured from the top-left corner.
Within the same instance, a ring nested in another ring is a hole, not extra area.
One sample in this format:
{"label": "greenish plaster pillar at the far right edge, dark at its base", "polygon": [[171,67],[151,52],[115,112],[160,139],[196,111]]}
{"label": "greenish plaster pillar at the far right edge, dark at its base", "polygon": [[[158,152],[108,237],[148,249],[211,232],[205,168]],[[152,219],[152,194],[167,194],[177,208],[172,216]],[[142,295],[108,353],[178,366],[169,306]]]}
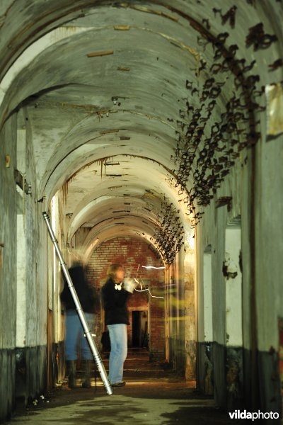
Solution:
{"label": "greenish plaster pillar at the far right edge, dark at its base", "polygon": [[[281,111],[282,116],[282,111]],[[258,328],[260,404],[275,409],[282,403],[279,381],[279,327],[283,317],[283,135],[257,149],[255,191],[255,290]]]}

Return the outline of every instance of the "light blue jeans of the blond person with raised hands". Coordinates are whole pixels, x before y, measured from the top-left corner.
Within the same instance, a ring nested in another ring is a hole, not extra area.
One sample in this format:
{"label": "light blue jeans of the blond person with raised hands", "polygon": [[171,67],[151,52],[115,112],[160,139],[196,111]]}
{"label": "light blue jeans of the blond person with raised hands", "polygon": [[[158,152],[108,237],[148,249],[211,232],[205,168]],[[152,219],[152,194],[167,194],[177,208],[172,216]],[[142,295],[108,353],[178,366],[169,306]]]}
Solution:
{"label": "light blue jeans of the blond person with raised hands", "polygon": [[111,351],[109,358],[109,381],[116,384],[123,380],[124,362],[127,358],[127,324],[108,324]]}

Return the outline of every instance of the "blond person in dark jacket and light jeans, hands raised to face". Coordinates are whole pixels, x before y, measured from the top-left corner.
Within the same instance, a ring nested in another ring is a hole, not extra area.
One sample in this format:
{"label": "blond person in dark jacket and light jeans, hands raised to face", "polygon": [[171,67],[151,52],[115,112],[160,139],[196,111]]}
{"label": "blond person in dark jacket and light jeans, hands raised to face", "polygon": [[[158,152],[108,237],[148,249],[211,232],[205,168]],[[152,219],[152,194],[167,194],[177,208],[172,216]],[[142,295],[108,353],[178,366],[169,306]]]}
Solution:
{"label": "blond person in dark jacket and light jeans, hands raised to face", "polygon": [[105,324],[108,326],[111,343],[109,381],[112,387],[122,387],[126,383],[123,381],[123,368],[127,358],[127,324],[129,324],[127,298],[133,287],[124,285],[124,278],[125,271],[122,265],[112,264],[108,268],[108,280],[101,290]]}

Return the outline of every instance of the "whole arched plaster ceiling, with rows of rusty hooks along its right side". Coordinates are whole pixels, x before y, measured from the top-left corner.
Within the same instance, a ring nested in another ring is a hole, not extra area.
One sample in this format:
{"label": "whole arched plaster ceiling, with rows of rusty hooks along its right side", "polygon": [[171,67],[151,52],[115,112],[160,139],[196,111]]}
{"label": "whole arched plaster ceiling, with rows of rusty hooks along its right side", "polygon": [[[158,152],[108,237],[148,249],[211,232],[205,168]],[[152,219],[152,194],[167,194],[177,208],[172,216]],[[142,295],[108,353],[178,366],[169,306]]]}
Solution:
{"label": "whole arched plaster ceiling, with rows of rusty hooks along its right side", "polygon": [[133,233],[171,262],[258,140],[281,2],[4,0],[0,16],[0,122],[22,111],[67,242]]}

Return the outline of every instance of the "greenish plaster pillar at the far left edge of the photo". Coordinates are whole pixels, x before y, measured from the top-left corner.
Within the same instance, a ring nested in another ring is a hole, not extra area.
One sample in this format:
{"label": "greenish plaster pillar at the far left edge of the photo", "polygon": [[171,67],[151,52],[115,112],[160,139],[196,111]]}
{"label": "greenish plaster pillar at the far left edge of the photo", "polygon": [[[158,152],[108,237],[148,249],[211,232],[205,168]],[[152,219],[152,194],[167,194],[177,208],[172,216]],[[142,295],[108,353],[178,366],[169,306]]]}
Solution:
{"label": "greenish plaster pillar at the far left edge of the photo", "polygon": [[[6,155],[10,157],[6,167]],[[16,346],[16,116],[0,132],[0,421],[15,404]]]}

